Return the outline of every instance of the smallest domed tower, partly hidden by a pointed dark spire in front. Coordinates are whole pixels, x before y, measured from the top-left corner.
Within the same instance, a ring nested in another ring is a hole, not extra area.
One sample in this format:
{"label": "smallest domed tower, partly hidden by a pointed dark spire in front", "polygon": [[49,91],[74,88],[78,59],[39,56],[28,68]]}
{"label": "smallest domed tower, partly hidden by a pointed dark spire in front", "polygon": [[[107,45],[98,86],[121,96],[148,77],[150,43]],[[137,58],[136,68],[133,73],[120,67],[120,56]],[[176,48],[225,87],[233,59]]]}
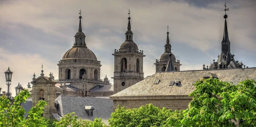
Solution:
{"label": "smallest domed tower, partly hidden by a pointed dark spire in front", "polygon": [[[169,28],[169,26],[167,26]],[[171,56],[171,57],[170,57]],[[164,53],[160,57],[160,61],[156,59],[156,72],[164,72],[166,70],[169,59],[171,58],[175,71],[180,71],[180,61],[176,60],[175,55],[172,53],[172,46],[169,40],[169,32],[167,29],[166,44],[164,45]]]}

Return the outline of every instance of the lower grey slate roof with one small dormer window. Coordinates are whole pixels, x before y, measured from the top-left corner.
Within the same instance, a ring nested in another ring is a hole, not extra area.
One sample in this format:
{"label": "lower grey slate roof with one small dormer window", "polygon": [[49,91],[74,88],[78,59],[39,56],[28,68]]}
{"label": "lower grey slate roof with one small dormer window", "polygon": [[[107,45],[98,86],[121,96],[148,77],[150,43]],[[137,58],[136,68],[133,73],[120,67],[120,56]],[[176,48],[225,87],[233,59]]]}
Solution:
{"label": "lower grey slate roof with one small dormer window", "polygon": [[[60,95],[55,99],[59,107],[57,112],[62,117],[67,113],[75,112],[78,118],[93,121],[95,118],[102,118],[102,121],[108,125],[108,119],[113,112],[113,100],[105,98],[92,97],[71,97]],[[89,117],[85,111],[85,106],[93,104],[93,117]]]}

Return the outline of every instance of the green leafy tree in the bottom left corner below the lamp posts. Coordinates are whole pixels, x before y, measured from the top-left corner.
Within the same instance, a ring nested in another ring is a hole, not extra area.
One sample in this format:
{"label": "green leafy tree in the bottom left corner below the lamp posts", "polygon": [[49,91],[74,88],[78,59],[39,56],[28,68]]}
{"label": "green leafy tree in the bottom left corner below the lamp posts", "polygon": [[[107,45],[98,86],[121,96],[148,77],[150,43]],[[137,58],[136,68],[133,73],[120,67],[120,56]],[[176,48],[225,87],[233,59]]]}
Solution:
{"label": "green leafy tree in the bottom left corner below the lamp posts", "polygon": [[48,123],[45,118],[41,116],[44,110],[44,105],[47,105],[45,101],[38,101],[35,107],[32,107],[28,116],[25,119],[24,113],[26,111],[21,103],[26,102],[29,91],[23,90],[19,95],[15,96],[14,102],[10,105],[10,100],[5,95],[0,97],[0,127],[47,127]]}

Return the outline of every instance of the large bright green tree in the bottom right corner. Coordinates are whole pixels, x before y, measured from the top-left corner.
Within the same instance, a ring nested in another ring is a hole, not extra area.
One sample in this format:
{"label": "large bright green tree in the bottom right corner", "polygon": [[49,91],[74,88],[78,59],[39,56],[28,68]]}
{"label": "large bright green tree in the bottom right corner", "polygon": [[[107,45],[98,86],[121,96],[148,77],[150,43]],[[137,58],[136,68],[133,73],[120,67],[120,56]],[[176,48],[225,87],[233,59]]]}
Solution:
{"label": "large bright green tree in the bottom right corner", "polygon": [[[180,127],[241,127],[256,126],[256,82],[246,79],[238,85],[209,78],[197,81],[189,95],[193,100],[184,110]],[[177,126],[177,127],[178,127]]]}

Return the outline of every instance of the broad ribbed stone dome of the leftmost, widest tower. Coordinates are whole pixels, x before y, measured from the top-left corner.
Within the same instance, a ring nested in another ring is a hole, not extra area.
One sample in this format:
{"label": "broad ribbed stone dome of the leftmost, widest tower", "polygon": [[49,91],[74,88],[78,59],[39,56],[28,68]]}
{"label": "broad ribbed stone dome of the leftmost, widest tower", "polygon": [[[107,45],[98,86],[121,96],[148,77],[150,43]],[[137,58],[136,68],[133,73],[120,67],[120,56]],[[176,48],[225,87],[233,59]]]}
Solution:
{"label": "broad ribbed stone dome of the leftmost, widest tower", "polygon": [[63,59],[93,59],[97,61],[93,51],[85,46],[73,46],[63,55]]}

